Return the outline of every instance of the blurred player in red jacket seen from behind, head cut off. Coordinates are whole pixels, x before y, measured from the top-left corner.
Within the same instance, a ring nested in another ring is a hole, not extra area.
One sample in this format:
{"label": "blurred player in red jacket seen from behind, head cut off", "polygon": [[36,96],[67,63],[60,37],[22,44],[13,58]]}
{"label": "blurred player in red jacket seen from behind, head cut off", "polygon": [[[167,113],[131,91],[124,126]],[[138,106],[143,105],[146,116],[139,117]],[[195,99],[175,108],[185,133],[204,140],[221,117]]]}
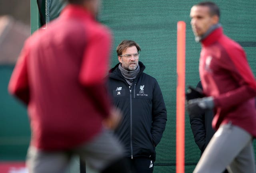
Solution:
{"label": "blurred player in red jacket seen from behind, head cut off", "polygon": [[30,173],[63,173],[74,154],[101,173],[127,172],[123,148],[107,130],[121,114],[106,94],[112,40],[95,20],[99,4],[68,0],[20,53],[8,90],[28,106]]}

